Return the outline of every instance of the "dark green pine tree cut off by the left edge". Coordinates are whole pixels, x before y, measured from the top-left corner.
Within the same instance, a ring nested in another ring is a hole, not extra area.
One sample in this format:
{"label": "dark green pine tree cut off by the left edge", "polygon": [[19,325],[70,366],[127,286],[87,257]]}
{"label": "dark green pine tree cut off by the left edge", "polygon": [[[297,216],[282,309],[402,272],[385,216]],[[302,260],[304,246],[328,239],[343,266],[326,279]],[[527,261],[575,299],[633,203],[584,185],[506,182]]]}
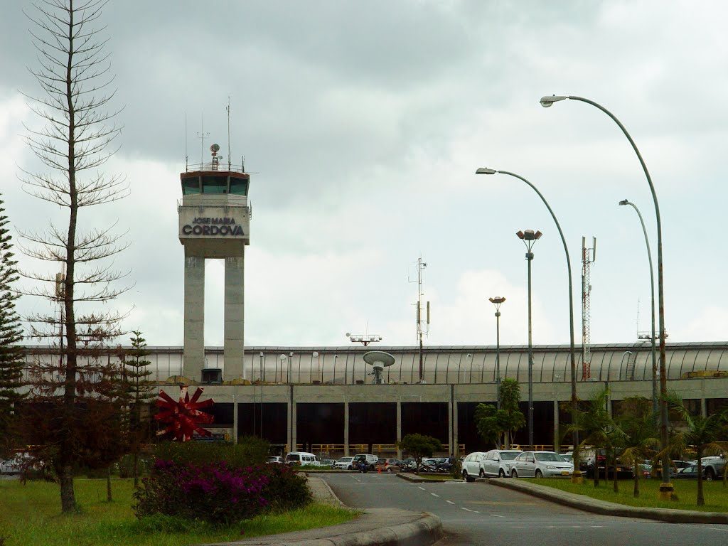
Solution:
{"label": "dark green pine tree cut off by the left edge", "polygon": [[[15,404],[24,397],[18,390],[23,385],[23,347],[17,344],[23,333],[15,312],[18,294],[11,288],[18,278],[17,261],[13,259],[12,237],[3,205],[0,198],[0,438],[9,440]],[[0,445],[0,450],[7,447]]]}

